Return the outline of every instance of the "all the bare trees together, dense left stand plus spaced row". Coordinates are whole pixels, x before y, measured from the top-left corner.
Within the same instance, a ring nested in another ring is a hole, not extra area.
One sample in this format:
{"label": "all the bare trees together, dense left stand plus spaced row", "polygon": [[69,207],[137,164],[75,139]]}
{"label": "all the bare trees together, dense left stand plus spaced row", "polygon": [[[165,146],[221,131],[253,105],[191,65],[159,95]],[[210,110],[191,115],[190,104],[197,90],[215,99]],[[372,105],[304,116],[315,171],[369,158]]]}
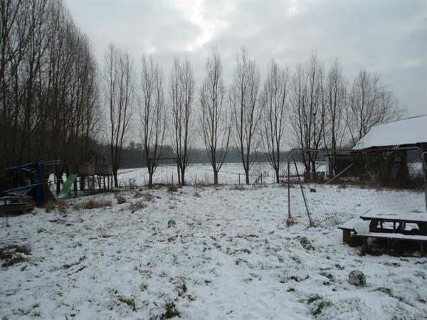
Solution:
{"label": "all the bare trees together, dense left stand plus spaced row", "polygon": [[[255,160],[268,160],[279,181],[285,145],[304,149],[300,160],[315,174],[319,149],[353,146],[374,125],[399,119],[404,109],[379,73],[359,70],[352,81],[339,59],[330,68],[313,53],[291,72],[274,59],[264,80],[246,48],[236,55],[226,85],[218,50],[206,58],[196,85],[191,63],[175,58],[165,77],[152,56],[136,75],[126,50],[110,45],[98,68],[90,41],[61,1],[0,2],[0,144],[2,167],[60,159],[69,174],[93,148],[117,171],[139,147],[149,186],[162,158],[176,159],[179,183],[201,139],[218,183],[227,154],[238,155],[246,183]],[[139,142],[130,147],[131,128]],[[230,159],[230,157],[228,157]]]}

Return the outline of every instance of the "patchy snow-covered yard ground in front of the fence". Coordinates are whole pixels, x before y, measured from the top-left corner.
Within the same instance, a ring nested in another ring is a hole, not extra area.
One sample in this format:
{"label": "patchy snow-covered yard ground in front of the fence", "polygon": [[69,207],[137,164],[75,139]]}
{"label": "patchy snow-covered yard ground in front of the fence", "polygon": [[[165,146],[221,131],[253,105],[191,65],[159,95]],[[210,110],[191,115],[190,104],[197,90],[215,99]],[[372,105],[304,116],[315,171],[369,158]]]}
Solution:
{"label": "patchy snow-covered yard ground in front of the fence", "polygon": [[[304,188],[315,228],[299,188],[285,225],[278,185],[122,191],[4,220],[1,246],[31,252],[0,271],[0,319],[426,319],[427,258],[361,255],[337,229],[375,206],[425,210],[423,194]],[[82,209],[90,199],[112,205]]]}

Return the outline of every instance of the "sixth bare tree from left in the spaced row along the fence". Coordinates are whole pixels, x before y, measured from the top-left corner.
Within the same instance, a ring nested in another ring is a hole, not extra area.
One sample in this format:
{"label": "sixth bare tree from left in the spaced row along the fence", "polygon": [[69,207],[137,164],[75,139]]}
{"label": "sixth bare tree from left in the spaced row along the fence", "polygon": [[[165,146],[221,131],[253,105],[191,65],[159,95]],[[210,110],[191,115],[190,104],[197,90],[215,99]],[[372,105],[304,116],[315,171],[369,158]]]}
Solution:
{"label": "sixth bare tree from left in the spaced row along the fence", "polygon": [[263,147],[268,162],[275,171],[277,183],[280,182],[280,154],[283,148],[286,111],[288,109],[288,74],[288,68],[281,70],[275,60],[270,60],[261,97]]}

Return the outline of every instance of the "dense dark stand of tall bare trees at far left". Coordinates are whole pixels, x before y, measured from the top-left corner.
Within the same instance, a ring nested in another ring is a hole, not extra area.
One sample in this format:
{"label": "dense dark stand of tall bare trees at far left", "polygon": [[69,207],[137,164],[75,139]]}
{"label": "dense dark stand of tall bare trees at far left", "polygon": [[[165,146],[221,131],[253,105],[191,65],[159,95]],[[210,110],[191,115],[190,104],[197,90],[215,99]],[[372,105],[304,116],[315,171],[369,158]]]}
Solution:
{"label": "dense dark stand of tall bare trees at far left", "polygon": [[100,117],[90,41],[62,1],[0,1],[0,168],[85,156]]}

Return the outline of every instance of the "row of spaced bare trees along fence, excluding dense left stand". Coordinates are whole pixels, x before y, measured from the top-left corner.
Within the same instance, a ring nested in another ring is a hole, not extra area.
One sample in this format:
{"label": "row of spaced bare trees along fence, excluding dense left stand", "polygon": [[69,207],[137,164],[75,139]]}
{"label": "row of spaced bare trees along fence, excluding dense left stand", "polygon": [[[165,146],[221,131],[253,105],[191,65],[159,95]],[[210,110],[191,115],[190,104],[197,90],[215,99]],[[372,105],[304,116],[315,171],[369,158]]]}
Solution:
{"label": "row of spaced bare trees along fence, excluding dense left stand", "polygon": [[360,70],[349,82],[339,60],[325,70],[315,53],[294,73],[270,60],[262,82],[255,60],[241,48],[228,87],[217,50],[206,58],[205,77],[198,87],[186,58],[175,59],[167,80],[151,57],[142,58],[139,81],[133,70],[129,53],[110,46],[103,73],[110,110],[108,137],[117,172],[134,119],[149,186],[165,144],[172,145],[176,154],[180,183],[185,183],[191,147],[198,140],[206,147],[214,184],[229,146],[240,151],[246,183],[259,151],[267,156],[279,182],[286,147],[300,149],[305,171],[315,176],[320,149],[334,153],[344,145],[351,147],[372,125],[404,114],[378,73]]}

